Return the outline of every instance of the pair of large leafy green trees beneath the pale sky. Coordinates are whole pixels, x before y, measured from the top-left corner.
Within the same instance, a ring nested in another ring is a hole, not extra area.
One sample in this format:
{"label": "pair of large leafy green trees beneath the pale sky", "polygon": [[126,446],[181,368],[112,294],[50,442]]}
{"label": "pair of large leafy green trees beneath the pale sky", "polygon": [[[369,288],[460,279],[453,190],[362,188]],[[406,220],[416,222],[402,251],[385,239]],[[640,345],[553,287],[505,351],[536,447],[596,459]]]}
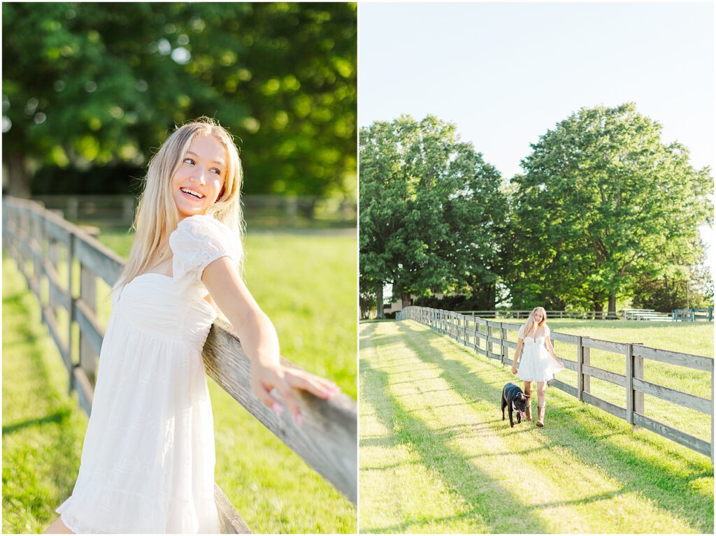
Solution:
{"label": "pair of large leafy green trees beneath the pale sky", "polygon": [[404,304],[448,293],[485,309],[712,302],[700,238],[712,224],[710,169],[664,142],[658,122],[634,103],[583,108],[531,147],[503,183],[437,117],[361,129],[363,308],[376,296],[381,312],[385,283]]}

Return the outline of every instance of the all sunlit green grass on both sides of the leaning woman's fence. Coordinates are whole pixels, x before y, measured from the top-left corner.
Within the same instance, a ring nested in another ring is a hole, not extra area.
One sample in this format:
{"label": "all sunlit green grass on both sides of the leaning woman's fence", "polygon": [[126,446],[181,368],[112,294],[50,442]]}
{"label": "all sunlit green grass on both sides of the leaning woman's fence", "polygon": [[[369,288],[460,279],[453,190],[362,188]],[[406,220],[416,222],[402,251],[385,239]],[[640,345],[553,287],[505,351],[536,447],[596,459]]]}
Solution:
{"label": "all sunlit green grass on both sides of the leaning woman's fence", "polygon": [[[100,235],[125,256],[130,238]],[[259,233],[246,281],[274,321],[281,353],[356,396],[354,234]],[[66,263],[60,271],[67,278]],[[3,532],[42,532],[72,492],[87,417],[67,396],[59,352],[14,261],[3,263]],[[77,277],[78,278],[78,277]],[[109,291],[98,285],[106,326]],[[59,318],[61,332],[67,319]],[[64,323],[63,323],[64,321]],[[211,379],[216,482],[254,532],[355,532],[356,510]]]}

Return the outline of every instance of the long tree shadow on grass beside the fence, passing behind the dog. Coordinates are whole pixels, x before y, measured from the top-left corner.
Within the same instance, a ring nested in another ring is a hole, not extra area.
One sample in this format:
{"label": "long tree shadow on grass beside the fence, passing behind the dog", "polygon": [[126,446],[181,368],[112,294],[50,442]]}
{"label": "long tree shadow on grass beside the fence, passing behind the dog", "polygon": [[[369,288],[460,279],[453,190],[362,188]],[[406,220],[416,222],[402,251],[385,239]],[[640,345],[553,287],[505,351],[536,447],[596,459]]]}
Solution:
{"label": "long tree shadow on grass beside the fence, passing behind the dog", "polygon": [[[495,388],[492,382],[481,380],[460,361],[446,359],[437,343],[444,343],[448,339],[427,328],[417,328],[417,326],[417,323],[398,323],[399,330],[406,335],[403,339],[404,343],[422,361],[440,366],[444,371],[445,381],[448,381],[455,391],[466,399],[483,399],[498,404],[502,394],[501,388]],[[413,340],[412,336],[415,335],[422,338],[422,341]],[[475,355],[475,359],[486,361],[483,356]],[[494,367],[491,374],[503,374],[505,379],[513,377],[511,374],[508,376],[508,373],[501,373],[498,367]],[[599,419],[604,428],[612,430],[610,435],[628,436],[652,454],[656,452],[661,456],[642,457],[628,449],[605,442],[604,434],[581,427],[579,424],[576,412],[584,411],[582,403],[561,391],[554,394],[550,394],[549,391],[551,390],[548,389],[548,405],[555,394],[561,397],[561,407],[553,406],[551,411],[548,408],[548,424],[540,430],[540,433],[549,440],[549,444],[569,450],[579,461],[621,482],[622,493],[642,494],[660,509],[674,512],[675,517],[684,519],[695,530],[713,533],[713,497],[706,496],[690,486],[690,482],[694,479],[713,477],[713,466],[707,459],[704,458],[704,461],[699,463],[695,458],[684,457],[683,465],[687,469],[687,474],[674,472],[669,469],[667,460],[671,457],[682,457],[683,450],[679,445],[664,446],[661,441],[652,442],[644,437],[635,437],[627,422],[606,413],[602,414],[601,411],[592,411],[593,419]],[[659,459],[663,463],[660,463]]]}

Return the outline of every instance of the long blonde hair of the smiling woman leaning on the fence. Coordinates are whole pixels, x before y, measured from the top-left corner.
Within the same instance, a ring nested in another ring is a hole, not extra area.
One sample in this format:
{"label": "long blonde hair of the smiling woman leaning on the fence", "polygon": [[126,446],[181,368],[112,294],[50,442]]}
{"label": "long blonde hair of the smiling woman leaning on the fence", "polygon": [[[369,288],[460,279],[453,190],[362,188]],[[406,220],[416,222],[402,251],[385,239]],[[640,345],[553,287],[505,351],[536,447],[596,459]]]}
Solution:
{"label": "long blonde hair of the smiling woman leaning on the fence", "polygon": [[149,160],[145,184],[137,200],[132,228],[135,238],[125,268],[112,291],[124,286],[149,267],[155,254],[169,250],[169,234],[180,221],[179,211],[172,196],[172,179],[178,170],[191,141],[196,136],[213,136],[226,149],[226,175],[218,200],[205,212],[236,231],[243,242],[243,217],[241,215],[241,181],[243,170],[233,137],[210,117],[175,127],[157,153]]}

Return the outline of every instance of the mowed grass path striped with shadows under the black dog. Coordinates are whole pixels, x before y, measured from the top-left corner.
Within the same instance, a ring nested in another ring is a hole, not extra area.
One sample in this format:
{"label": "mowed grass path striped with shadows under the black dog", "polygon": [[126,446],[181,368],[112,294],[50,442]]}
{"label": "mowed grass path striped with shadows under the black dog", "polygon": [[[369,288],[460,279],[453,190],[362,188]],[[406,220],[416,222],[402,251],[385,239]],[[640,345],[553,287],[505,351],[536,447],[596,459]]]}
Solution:
{"label": "mowed grass path striped with shadows under the black dog", "polygon": [[511,429],[507,367],[413,321],[360,326],[361,532],[713,532],[710,460],[548,389]]}

